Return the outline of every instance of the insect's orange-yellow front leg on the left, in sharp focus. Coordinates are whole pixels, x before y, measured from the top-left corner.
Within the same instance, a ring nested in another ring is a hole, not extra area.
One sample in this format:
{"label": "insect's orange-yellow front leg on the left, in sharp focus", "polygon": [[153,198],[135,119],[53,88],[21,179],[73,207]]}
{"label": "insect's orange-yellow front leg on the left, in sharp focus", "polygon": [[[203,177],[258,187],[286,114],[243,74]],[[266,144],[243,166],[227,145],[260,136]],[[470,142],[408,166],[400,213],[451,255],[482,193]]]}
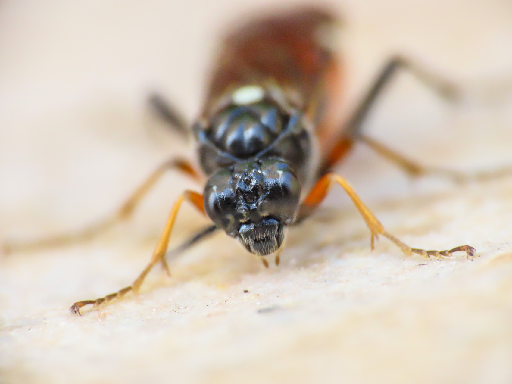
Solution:
{"label": "insect's orange-yellow front leg on the left, in sharp focus", "polygon": [[[173,226],[176,221],[176,216],[178,215],[180,206],[183,203],[183,201],[185,201],[185,200],[190,202],[194,207],[196,207],[204,215],[203,196],[201,194],[198,194],[197,192],[186,190],[183,194],[181,194],[178,197],[178,199],[176,200],[172,209],[169,212],[167,222],[165,224],[164,230],[162,231],[162,234],[160,235],[160,240],[158,241],[158,244],[155,247],[155,250],[153,251],[153,255],[151,257],[150,263],[147,264],[146,268],[144,268],[144,270],[139,274],[138,278],[135,279],[135,281],[132,283],[132,285],[122,288],[115,293],[111,293],[104,297],[97,298],[96,300],[84,300],[81,302],[74,303],[70,308],[71,313],[80,314],[80,308],[85,305],[92,304],[94,306],[98,306],[102,303],[109,302],[109,301],[113,300],[114,298],[120,298],[130,291],[137,293],[140,286],[144,282],[146,275],[151,271],[151,269],[155,266],[155,264],[161,263],[163,260],[165,260],[164,259],[165,252],[167,251],[170,233],[173,230]],[[209,234],[210,232],[205,231],[205,233]],[[167,266],[166,263],[164,265]],[[168,273],[168,269],[167,269],[167,273]]]}

